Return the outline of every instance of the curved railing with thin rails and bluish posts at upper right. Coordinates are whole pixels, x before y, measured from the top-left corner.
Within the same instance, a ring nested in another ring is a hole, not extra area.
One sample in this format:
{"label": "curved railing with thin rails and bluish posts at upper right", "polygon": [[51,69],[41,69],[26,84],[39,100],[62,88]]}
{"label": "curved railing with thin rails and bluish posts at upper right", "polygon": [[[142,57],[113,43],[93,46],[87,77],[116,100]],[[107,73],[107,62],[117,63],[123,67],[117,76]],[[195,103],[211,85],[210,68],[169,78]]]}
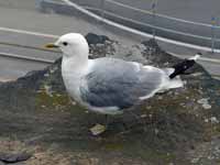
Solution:
{"label": "curved railing with thin rails and bluish posts at upper right", "polygon": [[[189,44],[220,48],[220,26],[187,21],[134,8],[114,0],[72,0],[96,14],[157,36]],[[156,7],[154,7],[156,8]],[[210,18],[211,22],[211,18]]]}

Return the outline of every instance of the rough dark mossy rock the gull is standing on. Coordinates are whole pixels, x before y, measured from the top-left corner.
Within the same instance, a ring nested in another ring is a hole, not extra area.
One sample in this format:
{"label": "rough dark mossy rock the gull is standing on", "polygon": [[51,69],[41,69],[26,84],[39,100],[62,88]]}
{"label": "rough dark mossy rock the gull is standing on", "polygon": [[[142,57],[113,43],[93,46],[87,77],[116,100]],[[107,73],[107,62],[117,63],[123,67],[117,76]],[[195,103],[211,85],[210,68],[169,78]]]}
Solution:
{"label": "rough dark mossy rock the gull is standing on", "polygon": [[[180,62],[154,41],[132,47],[111,40],[90,43],[90,57],[99,56],[158,67]],[[182,76],[184,88],[134,107],[139,120],[130,113],[111,118],[109,130],[99,136],[92,136],[89,128],[105,122],[105,117],[69,99],[61,59],[0,84],[0,151],[33,153],[28,165],[218,164],[220,81],[199,65],[189,72],[194,74]]]}

